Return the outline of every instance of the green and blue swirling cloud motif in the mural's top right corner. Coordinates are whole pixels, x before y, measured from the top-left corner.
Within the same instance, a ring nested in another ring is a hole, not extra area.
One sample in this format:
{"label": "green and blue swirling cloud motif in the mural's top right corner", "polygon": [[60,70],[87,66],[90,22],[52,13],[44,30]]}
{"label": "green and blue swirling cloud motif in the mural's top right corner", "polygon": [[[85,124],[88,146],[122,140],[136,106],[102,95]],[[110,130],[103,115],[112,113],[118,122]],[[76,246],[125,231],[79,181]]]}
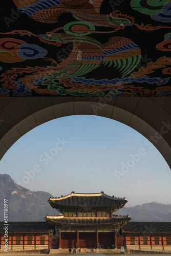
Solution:
{"label": "green and blue swirling cloud motif in the mural's top right corner", "polygon": [[132,0],[131,6],[143,14],[151,15],[159,22],[171,22],[171,2],[170,0]]}

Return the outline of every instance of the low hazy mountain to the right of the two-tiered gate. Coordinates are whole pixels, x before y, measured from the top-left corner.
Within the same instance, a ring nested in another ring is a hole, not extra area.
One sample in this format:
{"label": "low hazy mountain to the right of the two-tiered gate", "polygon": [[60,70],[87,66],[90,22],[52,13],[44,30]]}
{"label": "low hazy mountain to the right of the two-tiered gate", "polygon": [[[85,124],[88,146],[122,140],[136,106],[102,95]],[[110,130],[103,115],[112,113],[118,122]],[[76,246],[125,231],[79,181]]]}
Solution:
{"label": "low hazy mountain to the right of the two-tiered gate", "polygon": [[133,207],[123,207],[117,215],[128,214],[131,221],[166,221],[171,222],[171,204],[145,203]]}

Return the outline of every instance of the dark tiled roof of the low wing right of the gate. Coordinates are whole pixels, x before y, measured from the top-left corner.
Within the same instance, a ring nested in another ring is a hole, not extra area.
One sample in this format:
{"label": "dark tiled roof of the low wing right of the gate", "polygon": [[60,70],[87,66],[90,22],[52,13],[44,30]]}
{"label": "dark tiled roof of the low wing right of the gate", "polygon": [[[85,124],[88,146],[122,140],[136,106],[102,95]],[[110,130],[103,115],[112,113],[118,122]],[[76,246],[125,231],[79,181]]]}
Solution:
{"label": "dark tiled roof of the low wing right of the gate", "polygon": [[129,222],[121,228],[122,233],[169,233],[171,222]]}

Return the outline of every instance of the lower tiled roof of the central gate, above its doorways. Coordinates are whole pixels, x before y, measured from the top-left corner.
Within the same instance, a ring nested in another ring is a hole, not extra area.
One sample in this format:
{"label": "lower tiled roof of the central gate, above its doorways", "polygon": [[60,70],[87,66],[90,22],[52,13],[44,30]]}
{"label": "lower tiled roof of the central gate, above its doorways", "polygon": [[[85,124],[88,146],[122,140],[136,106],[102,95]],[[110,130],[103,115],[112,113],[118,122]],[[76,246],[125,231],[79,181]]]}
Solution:
{"label": "lower tiled roof of the central gate, above its doorways", "polygon": [[48,221],[48,223],[71,226],[106,226],[125,223],[127,221],[130,221],[131,218],[129,216],[122,216],[120,218],[63,218],[57,216],[46,216],[45,220]]}

